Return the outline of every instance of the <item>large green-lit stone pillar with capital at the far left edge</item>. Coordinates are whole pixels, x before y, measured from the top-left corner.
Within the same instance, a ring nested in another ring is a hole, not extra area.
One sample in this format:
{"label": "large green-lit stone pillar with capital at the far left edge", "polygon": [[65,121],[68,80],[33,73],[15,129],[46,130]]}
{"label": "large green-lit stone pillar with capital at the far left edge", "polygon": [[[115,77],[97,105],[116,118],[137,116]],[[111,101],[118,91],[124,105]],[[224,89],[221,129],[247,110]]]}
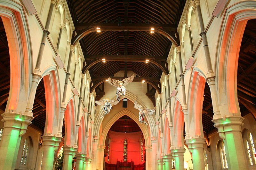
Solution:
{"label": "large green-lit stone pillar with capital at the far left edge", "polygon": [[0,142],[0,170],[14,169],[20,147],[21,136],[26,133],[31,124],[32,116],[21,113],[5,112],[2,114],[4,122],[3,135]]}

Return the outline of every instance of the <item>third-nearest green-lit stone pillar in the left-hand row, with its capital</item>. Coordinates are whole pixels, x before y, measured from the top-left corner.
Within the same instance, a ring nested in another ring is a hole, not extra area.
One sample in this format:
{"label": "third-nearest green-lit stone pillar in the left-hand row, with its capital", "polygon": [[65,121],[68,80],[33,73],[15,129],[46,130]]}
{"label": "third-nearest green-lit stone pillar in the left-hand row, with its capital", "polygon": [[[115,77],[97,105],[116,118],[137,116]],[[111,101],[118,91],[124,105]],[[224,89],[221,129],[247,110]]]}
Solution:
{"label": "third-nearest green-lit stone pillar in the left-hand row, with its capital", "polygon": [[72,169],[72,161],[75,157],[77,148],[63,146],[63,170]]}

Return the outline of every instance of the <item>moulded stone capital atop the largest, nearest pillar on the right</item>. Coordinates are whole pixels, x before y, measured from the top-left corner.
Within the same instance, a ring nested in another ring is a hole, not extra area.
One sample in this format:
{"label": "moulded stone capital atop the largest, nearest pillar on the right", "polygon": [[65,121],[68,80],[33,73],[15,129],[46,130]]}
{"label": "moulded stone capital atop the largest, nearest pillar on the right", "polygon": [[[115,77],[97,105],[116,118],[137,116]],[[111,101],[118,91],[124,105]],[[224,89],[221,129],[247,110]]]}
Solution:
{"label": "moulded stone capital atop the largest, nearest pillar on the right", "polygon": [[220,138],[225,139],[228,132],[242,132],[243,120],[242,116],[224,116],[223,118],[215,118],[212,122],[214,122],[214,127],[218,128]]}

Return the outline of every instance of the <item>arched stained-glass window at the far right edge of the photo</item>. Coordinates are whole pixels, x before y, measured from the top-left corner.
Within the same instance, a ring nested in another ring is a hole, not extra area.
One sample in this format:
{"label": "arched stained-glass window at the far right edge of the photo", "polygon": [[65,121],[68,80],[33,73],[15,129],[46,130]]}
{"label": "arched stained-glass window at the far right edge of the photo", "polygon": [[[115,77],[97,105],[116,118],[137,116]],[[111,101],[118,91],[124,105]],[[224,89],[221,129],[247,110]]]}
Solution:
{"label": "arched stained-glass window at the far right edge of the photo", "polygon": [[256,165],[256,157],[255,157],[256,152],[255,152],[254,140],[252,137],[252,133],[250,131],[247,131],[245,135],[245,150],[247,152],[250,165]]}

